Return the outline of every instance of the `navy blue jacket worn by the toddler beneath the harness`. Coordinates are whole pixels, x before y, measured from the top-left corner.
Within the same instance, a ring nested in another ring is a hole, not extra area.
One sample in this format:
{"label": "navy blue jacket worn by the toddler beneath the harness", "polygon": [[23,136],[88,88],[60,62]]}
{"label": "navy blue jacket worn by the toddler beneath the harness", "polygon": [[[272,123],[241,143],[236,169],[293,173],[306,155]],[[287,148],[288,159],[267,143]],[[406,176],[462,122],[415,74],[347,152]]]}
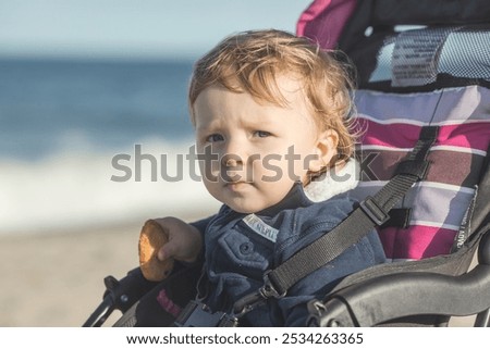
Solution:
{"label": "navy blue jacket worn by the toddler beneath the harness", "polygon": [[[354,209],[355,201],[336,196],[313,202],[301,185],[274,207],[243,214],[223,205],[207,221],[205,302],[213,311],[230,312],[233,303],[262,286],[267,270],[274,269],[303,247],[335,227]],[[311,255],[315,258],[315,255]],[[336,259],[294,285],[282,299],[270,299],[246,315],[252,326],[304,326],[306,303],[322,298],[342,277],[385,261],[376,232],[369,233]]]}

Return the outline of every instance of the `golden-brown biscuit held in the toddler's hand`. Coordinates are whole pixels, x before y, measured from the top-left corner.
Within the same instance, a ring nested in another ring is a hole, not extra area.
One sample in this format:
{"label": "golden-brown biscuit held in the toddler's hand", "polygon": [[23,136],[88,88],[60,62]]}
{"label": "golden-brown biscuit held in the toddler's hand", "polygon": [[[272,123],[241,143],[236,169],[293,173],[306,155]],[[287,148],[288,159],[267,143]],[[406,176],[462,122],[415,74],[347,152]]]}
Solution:
{"label": "golden-brown biscuit held in the toddler's hand", "polygon": [[157,253],[167,244],[169,235],[154,220],[145,222],[139,234],[139,267],[143,276],[150,282],[160,282],[170,275],[173,259],[160,261]]}

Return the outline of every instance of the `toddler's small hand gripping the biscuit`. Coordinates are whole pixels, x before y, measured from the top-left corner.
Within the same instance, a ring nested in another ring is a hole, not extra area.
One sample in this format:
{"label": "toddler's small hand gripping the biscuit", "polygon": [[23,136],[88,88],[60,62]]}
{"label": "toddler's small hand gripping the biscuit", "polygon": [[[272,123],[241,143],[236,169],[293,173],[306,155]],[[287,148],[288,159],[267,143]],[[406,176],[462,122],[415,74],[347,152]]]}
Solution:
{"label": "toddler's small hand gripping the biscuit", "polygon": [[156,219],[155,221],[169,234],[169,241],[158,251],[158,259],[164,261],[173,258],[182,262],[195,262],[203,248],[203,237],[199,230],[175,217]]}

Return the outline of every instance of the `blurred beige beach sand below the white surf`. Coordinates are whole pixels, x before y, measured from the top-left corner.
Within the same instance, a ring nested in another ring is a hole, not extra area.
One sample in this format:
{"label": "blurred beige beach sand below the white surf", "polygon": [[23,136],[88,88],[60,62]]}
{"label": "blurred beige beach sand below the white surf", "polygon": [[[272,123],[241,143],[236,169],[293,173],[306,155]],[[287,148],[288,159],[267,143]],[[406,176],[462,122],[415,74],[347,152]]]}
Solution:
{"label": "blurred beige beach sand below the white surf", "polygon": [[[137,266],[143,221],[64,234],[0,236],[0,326],[81,326],[97,308],[103,277]],[[106,325],[112,324],[114,313]],[[470,319],[452,321],[470,326]]]}

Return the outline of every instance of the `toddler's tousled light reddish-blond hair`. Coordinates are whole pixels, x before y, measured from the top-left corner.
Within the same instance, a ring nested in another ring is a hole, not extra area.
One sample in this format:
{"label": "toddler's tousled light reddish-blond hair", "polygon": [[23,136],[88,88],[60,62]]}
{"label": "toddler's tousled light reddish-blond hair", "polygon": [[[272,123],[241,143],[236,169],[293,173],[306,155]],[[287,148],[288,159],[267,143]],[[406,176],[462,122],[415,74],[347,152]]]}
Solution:
{"label": "toddler's tousled light reddish-blond hair", "polygon": [[339,135],[335,163],[352,157],[355,134],[351,113],[354,105],[352,66],[335,59],[338,51],[326,51],[309,39],[269,29],[232,35],[222,40],[194,65],[188,89],[191,120],[194,103],[203,90],[221,85],[233,92],[247,92],[259,101],[287,107],[277,77],[292,74],[303,85],[307,105],[320,130]]}

